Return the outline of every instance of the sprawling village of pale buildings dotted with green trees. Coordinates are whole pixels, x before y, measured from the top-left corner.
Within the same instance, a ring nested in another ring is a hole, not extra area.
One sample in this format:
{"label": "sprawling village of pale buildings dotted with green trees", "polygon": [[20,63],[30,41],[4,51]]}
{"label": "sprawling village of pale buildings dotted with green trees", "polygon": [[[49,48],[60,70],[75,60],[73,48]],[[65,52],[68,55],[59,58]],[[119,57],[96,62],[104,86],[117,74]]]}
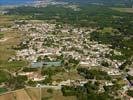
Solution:
{"label": "sprawling village of pale buildings dotted with green trees", "polygon": [[[125,73],[119,70],[124,61],[107,57],[110,54],[122,55],[122,53],[111,49],[111,45],[100,44],[90,39],[89,34],[96,29],[38,21],[15,21],[14,23],[10,29],[1,29],[1,31],[17,29],[26,36],[19,45],[13,47],[16,50],[16,56],[9,59],[9,62],[23,60],[29,62],[29,66],[25,68],[26,71],[21,69],[15,74],[27,77],[26,86],[61,89],[62,86],[75,87],[84,86],[88,82],[99,82],[98,91],[104,92],[104,86],[114,85],[111,80],[119,80],[122,84],[120,92],[122,95],[132,89],[129,81],[125,76],[123,77]],[[84,75],[80,71],[76,71],[78,68],[105,72],[111,80],[86,79],[82,77]],[[49,69],[54,71],[59,69],[59,71],[51,75],[52,72],[47,71]],[[69,75],[73,72],[76,73],[74,78]],[[60,73],[62,74],[58,75]],[[63,78],[65,77],[63,73],[67,73],[68,77]],[[133,76],[132,69],[128,74]],[[53,76],[56,78],[54,79]]]}

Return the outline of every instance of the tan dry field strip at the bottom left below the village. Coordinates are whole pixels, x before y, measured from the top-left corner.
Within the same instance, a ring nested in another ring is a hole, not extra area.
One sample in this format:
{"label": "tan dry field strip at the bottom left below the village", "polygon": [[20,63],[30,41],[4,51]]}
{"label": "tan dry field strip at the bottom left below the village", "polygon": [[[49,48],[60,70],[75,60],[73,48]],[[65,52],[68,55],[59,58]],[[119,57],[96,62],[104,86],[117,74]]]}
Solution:
{"label": "tan dry field strip at the bottom left below the village", "polygon": [[60,90],[26,88],[1,94],[0,100],[77,100],[77,98],[65,97]]}

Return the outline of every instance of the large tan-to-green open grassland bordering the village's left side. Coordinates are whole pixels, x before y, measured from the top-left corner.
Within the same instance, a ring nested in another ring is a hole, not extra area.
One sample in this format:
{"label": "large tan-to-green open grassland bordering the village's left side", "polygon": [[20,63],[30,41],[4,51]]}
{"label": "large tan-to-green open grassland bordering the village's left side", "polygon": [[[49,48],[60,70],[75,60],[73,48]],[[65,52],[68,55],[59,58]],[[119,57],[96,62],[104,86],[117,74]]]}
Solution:
{"label": "large tan-to-green open grassland bordering the village's left side", "polygon": [[20,34],[14,32],[5,33],[5,38],[8,38],[8,40],[0,43],[0,68],[14,70],[26,64],[24,61],[8,62],[8,59],[16,54],[12,46],[19,44],[22,37]]}

